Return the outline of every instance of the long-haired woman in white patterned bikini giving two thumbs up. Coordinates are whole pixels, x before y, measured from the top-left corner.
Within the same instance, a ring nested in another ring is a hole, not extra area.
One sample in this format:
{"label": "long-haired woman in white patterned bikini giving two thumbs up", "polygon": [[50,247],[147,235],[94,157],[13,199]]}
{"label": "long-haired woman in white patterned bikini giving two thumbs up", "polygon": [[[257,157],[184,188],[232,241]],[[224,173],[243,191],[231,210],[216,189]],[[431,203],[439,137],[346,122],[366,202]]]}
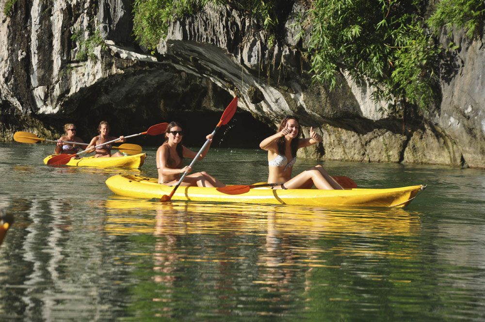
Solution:
{"label": "long-haired woman in white patterned bikini giving two thumbs up", "polygon": [[278,128],[278,132],[267,137],[259,147],[268,151],[269,176],[268,183],[284,182],[275,185],[273,189],[343,189],[321,165],[316,165],[291,178],[291,171],[296,162],[296,151],[299,148],[322,142],[322,137],[313,127],[310,137],[300,138],[300,125],[295,116],[286,116]]}

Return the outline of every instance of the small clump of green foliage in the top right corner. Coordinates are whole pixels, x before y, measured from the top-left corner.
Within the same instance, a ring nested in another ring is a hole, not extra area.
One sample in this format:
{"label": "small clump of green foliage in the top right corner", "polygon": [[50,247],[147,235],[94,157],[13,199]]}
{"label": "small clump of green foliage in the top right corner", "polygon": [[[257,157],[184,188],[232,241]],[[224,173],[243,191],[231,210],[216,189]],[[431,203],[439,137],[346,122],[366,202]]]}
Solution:
{"label": "small clump of green foliage in the top right corner", "polygon": [[482,32],[485,21],[483,0],[442,0],[428,19],[429,25],[437,32],[441,27],[448,30],[463,28],[469,38]]}

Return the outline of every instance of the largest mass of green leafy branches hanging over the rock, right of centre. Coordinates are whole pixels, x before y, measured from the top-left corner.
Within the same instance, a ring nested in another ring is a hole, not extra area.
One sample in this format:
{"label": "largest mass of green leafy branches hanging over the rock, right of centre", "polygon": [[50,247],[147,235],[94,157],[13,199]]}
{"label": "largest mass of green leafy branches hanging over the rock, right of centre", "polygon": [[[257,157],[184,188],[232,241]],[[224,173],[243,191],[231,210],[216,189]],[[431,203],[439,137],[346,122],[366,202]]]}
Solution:
{"label": "largest mass of green leafy branches hanging over the rock, right of centre", "polygon": [[308,34],[314,80],[338,85],[346,70],[376,88],[378,101],[406,98],[426,108],[433,101],[432,62],[440,49],[423,29],[411,0],[316,0],[300,16]]}

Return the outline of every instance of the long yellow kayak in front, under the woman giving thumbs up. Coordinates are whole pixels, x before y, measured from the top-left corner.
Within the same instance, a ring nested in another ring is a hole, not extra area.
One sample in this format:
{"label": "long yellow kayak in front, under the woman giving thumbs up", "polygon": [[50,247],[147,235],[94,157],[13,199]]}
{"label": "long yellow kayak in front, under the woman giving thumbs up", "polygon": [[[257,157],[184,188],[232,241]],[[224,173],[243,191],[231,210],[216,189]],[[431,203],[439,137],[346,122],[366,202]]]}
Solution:
{"label": "long yellow kayak in front, under the woman giving thumbs up", "polygon": [[[113,193],[135,197],[159,199],[170,194],[173,187],[158,184],[156,178],[116,175],[106,180]],[[178,187],[172,200],[203,202],[238,202],[249,204],[307,205],[324,207],[404,207],[424,190],[425,186],[392,189],[287,189],[268,187],[250,189],[242,194],[225,194],[216,188]]]}

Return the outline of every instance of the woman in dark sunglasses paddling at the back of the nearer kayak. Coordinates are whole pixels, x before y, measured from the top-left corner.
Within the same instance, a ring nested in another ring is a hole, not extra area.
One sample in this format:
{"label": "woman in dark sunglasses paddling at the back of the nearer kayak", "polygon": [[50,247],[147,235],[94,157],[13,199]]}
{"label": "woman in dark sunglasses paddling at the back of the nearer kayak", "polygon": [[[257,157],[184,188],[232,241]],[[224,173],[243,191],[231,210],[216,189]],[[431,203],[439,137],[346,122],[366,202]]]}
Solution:
{"label": "woman in dark sunglasses paddling at the back of the nearer kayak", "polygon": [[[170,122],[165,133],[166,140],[157,150],[158,183],[160,184],[175,185],[185,171],[188,173],[192,171],[190,166],[184,166],[183,157],[194,159],[197,156],[197,152],[189,150],[182,145],[182,136],[183,132],[180,124],[178,122]],[[206,136],[207,139],[210,139],[211,143],[212,134]],[[209,151],[210,143],[198,156],[197,160],[204,159]],[[180,186],[219,188],[226,185],[210,176],[207,172],[201,171],[185,176]]]}

